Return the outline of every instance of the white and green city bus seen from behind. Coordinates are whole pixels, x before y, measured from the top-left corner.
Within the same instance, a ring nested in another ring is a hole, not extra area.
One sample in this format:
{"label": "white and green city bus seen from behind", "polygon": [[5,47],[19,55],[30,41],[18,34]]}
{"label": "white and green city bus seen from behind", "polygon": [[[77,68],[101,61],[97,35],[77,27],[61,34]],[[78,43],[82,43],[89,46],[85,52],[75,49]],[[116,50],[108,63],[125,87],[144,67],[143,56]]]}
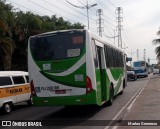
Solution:
{"label": "white and green city bus seen from behind", "polygon": [[124,52],[88,30],[30,37],[28,69],[36,106],[111,105],[126,87]]}

